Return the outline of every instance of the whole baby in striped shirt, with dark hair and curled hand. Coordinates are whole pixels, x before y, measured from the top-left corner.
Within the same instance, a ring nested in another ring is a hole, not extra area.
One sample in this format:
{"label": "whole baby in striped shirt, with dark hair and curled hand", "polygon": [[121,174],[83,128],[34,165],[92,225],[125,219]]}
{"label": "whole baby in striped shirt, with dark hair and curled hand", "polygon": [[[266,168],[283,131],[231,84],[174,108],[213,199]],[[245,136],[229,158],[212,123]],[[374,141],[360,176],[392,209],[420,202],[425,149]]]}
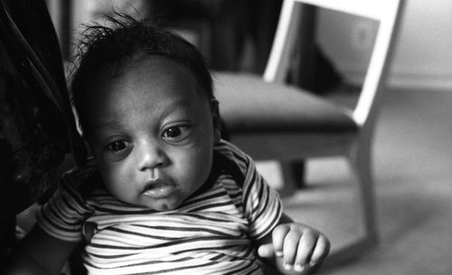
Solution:
{"label": "whole baby in striped shirt, with dark hair and curled hand", "polygon": [[288,218],[250,156],[221,139],[201,53],[127,16],[110,21],[89,28],[71,83],[93,160],[63,175],[8,274],[58,274],[80,242],[89,274],[318,268],[325,236]]}

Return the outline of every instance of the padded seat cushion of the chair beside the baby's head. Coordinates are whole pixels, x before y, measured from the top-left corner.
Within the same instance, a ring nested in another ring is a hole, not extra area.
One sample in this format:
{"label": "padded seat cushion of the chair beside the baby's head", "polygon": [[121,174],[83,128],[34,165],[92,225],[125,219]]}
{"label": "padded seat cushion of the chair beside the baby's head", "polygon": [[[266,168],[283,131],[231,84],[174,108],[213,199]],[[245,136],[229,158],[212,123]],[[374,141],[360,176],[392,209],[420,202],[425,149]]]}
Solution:
{"label": "padded seat cushion of the chair beside the baby's head", "polygon": [[221,118],[231,134],[247,132],[348,133],[357,126],[351,110],[254,74],[214,73]]}

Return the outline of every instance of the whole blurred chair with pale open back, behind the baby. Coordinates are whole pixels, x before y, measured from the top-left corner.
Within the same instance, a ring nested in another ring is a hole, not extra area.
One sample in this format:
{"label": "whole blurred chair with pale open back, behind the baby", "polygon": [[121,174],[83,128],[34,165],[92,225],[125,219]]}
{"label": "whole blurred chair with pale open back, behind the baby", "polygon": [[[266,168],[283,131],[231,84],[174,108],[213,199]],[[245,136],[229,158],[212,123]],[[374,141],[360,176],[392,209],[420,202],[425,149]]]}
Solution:
{"label": "whole blurred chair with pale open back, behind the baby", "polygon": [[[343,261],[375,245],[375,197],[372,137],[391,62],[402,0],[285,0],[272,51],[262,76],[218,72],[216,96],[231,141],[257,160],[291,161],[345,156],[360,188],[365,234],[329,261]],[[287,71],[297,44],[300,4],[316,5],[379,22],[372,56],[358,103],[346,109],[287,85]],[[284,171],[285,169],[283,169]]]}

